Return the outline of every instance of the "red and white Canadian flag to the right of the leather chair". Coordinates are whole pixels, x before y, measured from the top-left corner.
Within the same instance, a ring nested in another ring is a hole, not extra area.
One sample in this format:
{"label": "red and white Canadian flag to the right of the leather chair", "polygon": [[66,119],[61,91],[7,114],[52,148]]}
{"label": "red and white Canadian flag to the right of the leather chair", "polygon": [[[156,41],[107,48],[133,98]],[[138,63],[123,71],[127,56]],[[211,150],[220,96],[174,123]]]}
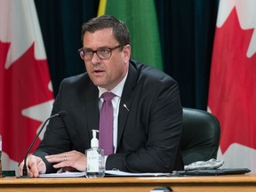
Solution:
{"label": "red and white Canadian flag to the right of the leather chair", "polygon": [[256,1],[220,0],[208,107],[220,120],[223,167],[256,173]]}

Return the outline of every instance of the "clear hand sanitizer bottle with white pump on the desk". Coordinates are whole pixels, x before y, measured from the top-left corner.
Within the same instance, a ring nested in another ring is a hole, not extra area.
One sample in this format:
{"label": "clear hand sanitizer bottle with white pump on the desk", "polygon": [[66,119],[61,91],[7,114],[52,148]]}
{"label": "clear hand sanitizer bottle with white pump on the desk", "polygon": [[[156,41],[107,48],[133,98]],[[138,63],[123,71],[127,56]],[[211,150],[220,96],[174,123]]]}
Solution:
{"label": "clear hand sanitizer bottle with white pump on the desk", "polygon": [[100,178],[105,175],[104,150],[99,148],[99,140],[96,138],[98,130],[92,130],[91,148],[85,150],[87,158],[85,176],[87,178]]}

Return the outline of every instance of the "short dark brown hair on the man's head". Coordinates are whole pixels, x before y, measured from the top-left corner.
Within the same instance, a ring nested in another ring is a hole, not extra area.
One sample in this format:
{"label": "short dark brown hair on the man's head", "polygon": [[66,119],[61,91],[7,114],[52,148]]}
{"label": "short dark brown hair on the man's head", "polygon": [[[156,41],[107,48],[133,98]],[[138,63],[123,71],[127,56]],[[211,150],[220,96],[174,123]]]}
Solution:
{"label": "short dark brown hair on the man's head", "polygon": [[112,28],[113,36],[119,44],[130,44],[130,32],[122,20],[117,20],[114,16],[102,15],[92,18],[82,25],[82,42],[86,31],[94,33],[104,28]]}

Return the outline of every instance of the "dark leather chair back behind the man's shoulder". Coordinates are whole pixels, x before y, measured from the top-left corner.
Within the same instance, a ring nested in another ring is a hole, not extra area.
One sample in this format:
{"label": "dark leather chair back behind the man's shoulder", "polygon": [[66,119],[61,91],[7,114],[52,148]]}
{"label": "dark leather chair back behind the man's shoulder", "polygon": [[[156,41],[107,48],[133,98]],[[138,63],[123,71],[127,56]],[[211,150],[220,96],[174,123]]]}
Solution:
{"label": "dark leather chair back behind the man's shoulder", "polygon": [[184,165],[217,157],[220,144],[220,122],[211,113],[183,108],[181,154]]}

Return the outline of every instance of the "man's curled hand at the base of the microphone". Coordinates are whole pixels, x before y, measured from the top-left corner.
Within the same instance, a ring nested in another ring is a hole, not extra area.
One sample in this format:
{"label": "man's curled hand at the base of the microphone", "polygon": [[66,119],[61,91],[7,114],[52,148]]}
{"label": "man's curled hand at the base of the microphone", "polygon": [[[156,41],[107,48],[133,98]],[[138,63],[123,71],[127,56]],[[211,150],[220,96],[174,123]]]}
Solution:
{"label": "man's curled hand at the base of the microphone", "polygon": [[[20,163],[18,167],[20,176],[22,176],[23,166],[24,166],[24,160]],[[28,167],[29,177],[38,177],[39,173],[46,172],[46,165],[44,164],[44,161],[38,156],[33,156],[33,155],[28,156],[27,167]]]}

